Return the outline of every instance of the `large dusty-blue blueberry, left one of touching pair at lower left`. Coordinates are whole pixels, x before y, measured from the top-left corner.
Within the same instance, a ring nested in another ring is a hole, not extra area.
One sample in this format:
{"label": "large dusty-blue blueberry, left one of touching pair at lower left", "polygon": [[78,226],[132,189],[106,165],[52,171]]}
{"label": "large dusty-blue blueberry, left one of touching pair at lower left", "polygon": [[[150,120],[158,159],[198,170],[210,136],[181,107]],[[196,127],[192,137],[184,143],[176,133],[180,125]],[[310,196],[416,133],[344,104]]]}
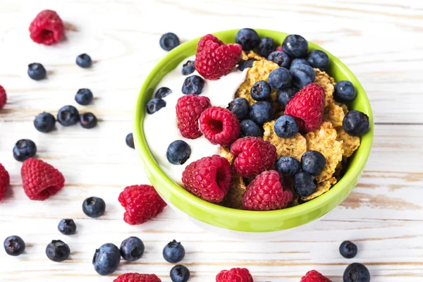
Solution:
{"label": "large dusty-blue blueberry, left one of touching pair at lower left", "polygon": [[121,251],[116,245],[107,243],[95,250],[92,264],[95,271],[100,275],[114,273],[121,262]]}

